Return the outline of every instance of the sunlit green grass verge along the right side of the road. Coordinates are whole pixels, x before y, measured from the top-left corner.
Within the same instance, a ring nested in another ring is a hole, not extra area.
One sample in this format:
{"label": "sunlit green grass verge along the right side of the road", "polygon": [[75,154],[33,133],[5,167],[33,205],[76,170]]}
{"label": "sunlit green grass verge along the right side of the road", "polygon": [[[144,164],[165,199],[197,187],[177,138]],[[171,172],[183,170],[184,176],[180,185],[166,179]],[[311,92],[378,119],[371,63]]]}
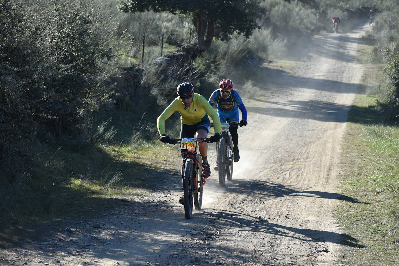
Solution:
{"label": "sunlit green grass verge along the right side of the road", "polygon": [[[370,86],[380,71],[366,68]],[[342,250],[344,265],[399,265],[399,128],[380,112],[375,96],[359,94],[343,138],[341,189],[355,200],[341,203],[336,217],[357,245]]]}

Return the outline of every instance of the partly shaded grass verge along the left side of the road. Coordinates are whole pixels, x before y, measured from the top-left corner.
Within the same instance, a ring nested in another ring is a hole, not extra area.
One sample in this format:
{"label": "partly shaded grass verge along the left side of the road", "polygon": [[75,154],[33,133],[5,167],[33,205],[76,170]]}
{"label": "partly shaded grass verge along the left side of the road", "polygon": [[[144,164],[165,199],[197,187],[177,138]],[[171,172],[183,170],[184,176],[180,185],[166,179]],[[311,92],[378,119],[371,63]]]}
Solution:
{"label": "partly shaded grass verge along the left side of the road", "polygon": [[46,148],[25,181],[30,190],[22,191],[25,197],[11,205],[18,218],[8,217],[8,226],[0,231],[0,247],[40,238],[43,223],[63,228],[73,221],[90,221],[180,179],[177,148],[161,142],[134,149],[107,144],[81,153]]}

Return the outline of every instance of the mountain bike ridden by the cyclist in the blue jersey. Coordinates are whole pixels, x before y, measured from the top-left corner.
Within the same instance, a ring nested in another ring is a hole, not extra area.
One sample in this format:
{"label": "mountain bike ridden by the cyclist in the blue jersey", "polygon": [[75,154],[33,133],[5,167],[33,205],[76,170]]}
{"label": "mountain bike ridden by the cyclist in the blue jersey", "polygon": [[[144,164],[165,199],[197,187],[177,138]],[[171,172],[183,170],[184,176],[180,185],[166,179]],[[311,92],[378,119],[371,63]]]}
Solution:
{"label": "mountain bike ridden by the cyclist in the blue jersey", "polygon": [[[213,124],[211,124],[212,126]],[[233,179],[234,152],[229,129],[236,126],[239,126],[239,124],[229,123],[228,119],[226,123],[221,123],[221,138],[216,143],[217,171],[219,171],[219,186],[221,187],[225,186],[226,177],[229,181]]]}

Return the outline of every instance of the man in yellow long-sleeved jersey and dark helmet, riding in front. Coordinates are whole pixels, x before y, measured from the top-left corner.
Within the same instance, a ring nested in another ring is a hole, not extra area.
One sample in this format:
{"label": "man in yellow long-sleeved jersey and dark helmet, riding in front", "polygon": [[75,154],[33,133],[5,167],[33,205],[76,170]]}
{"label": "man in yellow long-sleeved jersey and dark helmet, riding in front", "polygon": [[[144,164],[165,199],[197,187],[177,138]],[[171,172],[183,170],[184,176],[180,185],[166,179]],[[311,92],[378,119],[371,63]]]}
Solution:
{"label": "man in yellow long-sleeved jersey and dark helmet, riding in front", "polygon": [[[164,143],[177,143],[169,138],[165,132],[165,120],[177,111],[180,113],[182,122],[180,138],[206,138],[210,126],[209,114],[213,119],[215,128],[215,135],[209,138],[209,142],[217,142],[220,139],[220,118],[208,101],[202,95],[194,93],[194,86],[188,82],[184,82],[177,87],[177,94],[179,96],[158,116],[156,121],[158,132],[161,135],[160,140]],[[202,157],[204,178],[208,178],[211,174],[207,160],[208,144],[199,142],[198,149]],[[184,204],[184,197],[179,202]]]}

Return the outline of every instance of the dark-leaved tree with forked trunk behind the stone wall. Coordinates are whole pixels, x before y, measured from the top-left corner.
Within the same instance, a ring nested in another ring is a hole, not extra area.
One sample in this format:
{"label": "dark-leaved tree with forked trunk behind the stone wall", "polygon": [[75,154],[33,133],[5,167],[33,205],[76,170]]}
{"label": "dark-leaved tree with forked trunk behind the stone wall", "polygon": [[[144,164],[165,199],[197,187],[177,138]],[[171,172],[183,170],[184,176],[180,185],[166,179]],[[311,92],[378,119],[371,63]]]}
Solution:
{"label": "dark-leaved tree with forked trunk behind the stone wall", "polygon": [[123,0],[122,12],[170,12],[190,16],[198,36],[197,53],[207,50],[214,37],[228,40],[233,33],[251,36],[261,29],[257,18],[265,10],[256,0]]}

